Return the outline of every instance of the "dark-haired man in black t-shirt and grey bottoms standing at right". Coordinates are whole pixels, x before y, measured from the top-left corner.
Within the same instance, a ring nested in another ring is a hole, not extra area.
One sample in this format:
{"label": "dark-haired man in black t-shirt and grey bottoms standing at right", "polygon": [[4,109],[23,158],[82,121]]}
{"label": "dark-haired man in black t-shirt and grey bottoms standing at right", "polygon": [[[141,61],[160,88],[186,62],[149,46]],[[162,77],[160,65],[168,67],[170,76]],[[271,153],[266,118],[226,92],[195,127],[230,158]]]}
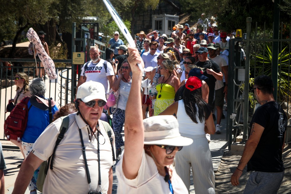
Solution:
{"label": "dark-haired man in black t-shirt and grey bottoms standing at right", "polygon": [[253,115],[249,139],[230,180],[233,186],[239,185],[239,177],[247,164],[247,171],[251,174],[244,193],[277,193],[284,177],[282,152],[287,117],[275,101],[273,90],[270,77],[261,75],[255,78],[253,92],[261,106]]}

